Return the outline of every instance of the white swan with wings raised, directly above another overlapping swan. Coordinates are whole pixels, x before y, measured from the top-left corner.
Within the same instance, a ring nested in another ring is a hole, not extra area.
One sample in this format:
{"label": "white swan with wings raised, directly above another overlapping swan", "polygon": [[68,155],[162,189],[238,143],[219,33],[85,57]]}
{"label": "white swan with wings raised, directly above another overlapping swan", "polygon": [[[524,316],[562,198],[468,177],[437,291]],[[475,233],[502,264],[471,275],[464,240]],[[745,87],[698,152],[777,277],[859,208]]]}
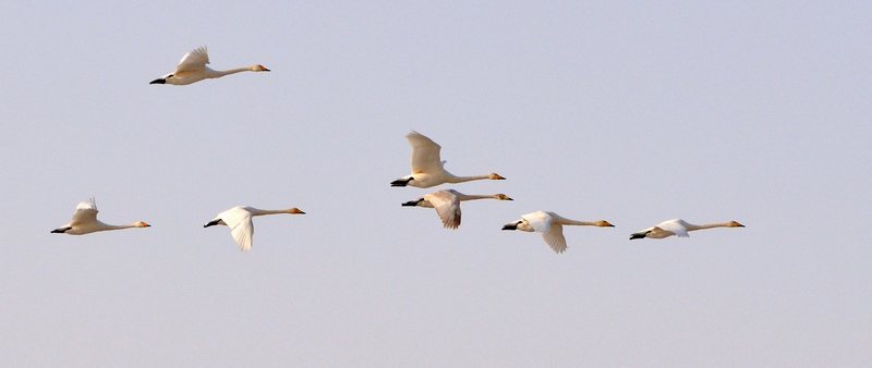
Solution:
{"label": "white swan with wings raised, directly above another overlapping swan", "polygon": [[445,161],[439,159],[439,150],[441,149],[439,145],[415,131],[407,134],[405,139],[412,145],[412,173],[395,180],[390,183],[390,186],[411,185],[420,188],[428,188],[445,183],[463,183],[482,179],[506,179],[493,172],[476,176],[455,176],[450,172],[445,171],[443,167]]}

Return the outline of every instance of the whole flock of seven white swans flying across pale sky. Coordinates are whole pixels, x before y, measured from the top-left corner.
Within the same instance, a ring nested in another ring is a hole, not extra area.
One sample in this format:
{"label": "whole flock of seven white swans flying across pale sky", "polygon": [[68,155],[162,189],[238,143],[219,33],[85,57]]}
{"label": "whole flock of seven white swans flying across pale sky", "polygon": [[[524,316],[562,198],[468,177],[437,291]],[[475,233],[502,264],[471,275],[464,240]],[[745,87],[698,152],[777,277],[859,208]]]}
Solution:
{"label": "whole flock of seven white swans flying across pale sky", "polygon": [[[226,71],[216,71],[206,66],[208,63],[209,56],[206,47],[199,47],[185,53],[172,73],[165,74],[164,76],[152,81],[149,84],[183,86],[203,79],[219,78],[225,75],[240,72],[269,72],[268,69],[261,64]],[[441,146],[433,142],[433,139],[415,131],[411,131],[409,134],[407,134],[405,139],[412,147],[410,164],[411,173],[390,182],[390,186],[392,187],[411,186],[416,188],[429,188],[441,184],[459,184],[479,180],[506,180],[506,177],[494,172],[471,176],[455,175],[445,170],[446,161],[441,160],[440,157]],[[456,189],[439,189],[429,194],[425,194],[415,200],[405,201],[402,204],[402,206],[433,208],[436,210],[436,214],[439,217],[439,220],[445,229],[458,229],[461,220],[460,203],[477,199],[513,200],[505,194],[467,195]],[[51,233],[83,235],[101,231],[150,226],[142,221],[122,225],[110,225],[97,220],[97,204],[94,198],[80,203],[76,206],[75,213],[73,213],[70,222],[52,230]],[[253,207],[238,206],[218,213],[218,216],[211,221],[207,222],[204,228],[210,228],[215,225],[226,225],[230,228],[230,233],[237,245],[239,245],[240,250],[249,252],[252,248],[252,238],[254,236],[254,222],[252,221],[252,218],[256,216],[278,213],[304,214],[305,212],[298,208],[264,210]],[[555,212],[535,211],[523,214],[521,216],[521,219],[502,225],[502,230],[519,230],[524,232],[540,233],[545,243],[555,253],[560,254],[564,253],[568,247],[566,237],[564,236],[564,225],[614,228],[611,223],[605,220],[591,222],[577,221],[564,218]],[[713,228],[744,228],[744,225],[736,221],[697,225],[688,223],[681,219],[673,219],[632,233],[630,234],[630,240],[666,238],[669,236],[688,237],[688,232],[690,231]]]}

